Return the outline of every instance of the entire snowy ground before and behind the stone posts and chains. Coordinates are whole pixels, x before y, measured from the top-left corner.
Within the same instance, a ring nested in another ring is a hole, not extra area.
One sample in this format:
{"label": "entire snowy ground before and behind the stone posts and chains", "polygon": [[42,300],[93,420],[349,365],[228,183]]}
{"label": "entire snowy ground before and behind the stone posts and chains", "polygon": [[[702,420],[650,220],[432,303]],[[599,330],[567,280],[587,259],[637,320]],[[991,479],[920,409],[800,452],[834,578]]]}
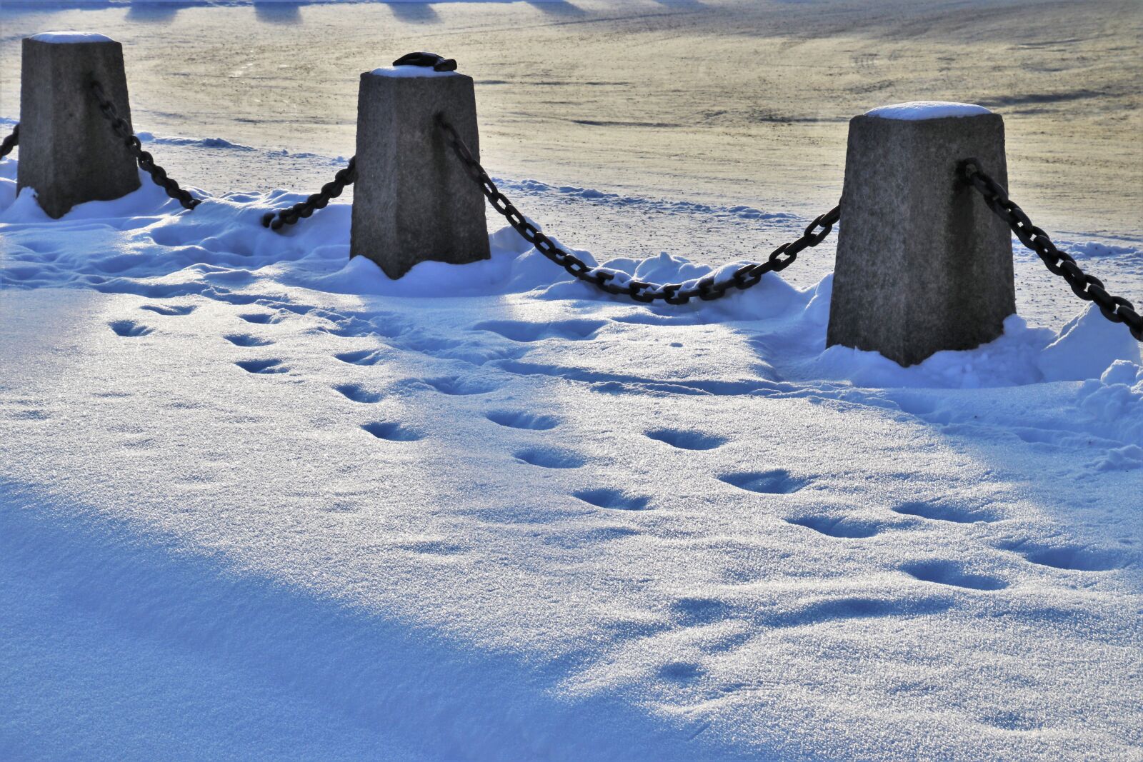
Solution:
{"label": "entire snowy ground before and behind the stone posts and chains", "polygon": [[429,49],[520,208],[648,280],[796,238],[849,117],[941,97],[1141,305],[1140,18],[6,0],[0,134],[19,39],[97,30],[213,195],[50,220],[0,161],[0,760],[1143,759],[1140,345],[1018,244],[1006,335],[902,369],[824,348],[832,240],[650,307],[507,230],[393,283],[352,189],[258,224]]}

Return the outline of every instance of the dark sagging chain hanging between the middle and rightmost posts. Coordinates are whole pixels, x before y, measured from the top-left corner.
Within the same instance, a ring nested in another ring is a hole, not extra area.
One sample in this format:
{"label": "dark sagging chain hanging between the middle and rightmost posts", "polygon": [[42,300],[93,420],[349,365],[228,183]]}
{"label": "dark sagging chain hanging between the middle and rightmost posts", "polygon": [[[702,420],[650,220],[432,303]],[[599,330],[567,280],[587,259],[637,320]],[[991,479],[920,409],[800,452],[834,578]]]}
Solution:
{"label": "dark sagging chain hanging between the middle and rightmost posts", "polygon": [[770,252],[766,262],[750,263],[738,267],[728,279],[716,280],[714,274],[711,273],[685,283],[647,283],[634,280],[620,271],[592,267],[574,254],[561,249],[559,244],[544,235],[538,227],[529,222],[507,200],[507,196],[499,192],[496,184],[488,176],[488,173],[473,158],[472,152],[469,151],[469,146],[464,144],[456,129],[445,120],[442,114],[437,115],[437,123],[445,131],[445,139],[461,160],[469,176],[480,185],[480,190],[488,199],[488,202],[507,219],[509,224],[523,240],[531,243],[536,247],[537,251],[563,267],[563,270],[568,271],[575,278],[591,283],[608,294],[629,296],[636,302],[652,303],[656,299],[663,299],[666,304],[687,304],[694,297],[710,302],[726,296],[730,288],[748,289],[751,286],[758,284],[766,273],[780,272],[789,267],[804,249],[821,243],[830,234],[830,231],[833,230],[833,225],[841,215],[841,207],[834,207],[824,215],[815,217],[806,226],[806,231],[801,234],[801,238],[776,248]]}

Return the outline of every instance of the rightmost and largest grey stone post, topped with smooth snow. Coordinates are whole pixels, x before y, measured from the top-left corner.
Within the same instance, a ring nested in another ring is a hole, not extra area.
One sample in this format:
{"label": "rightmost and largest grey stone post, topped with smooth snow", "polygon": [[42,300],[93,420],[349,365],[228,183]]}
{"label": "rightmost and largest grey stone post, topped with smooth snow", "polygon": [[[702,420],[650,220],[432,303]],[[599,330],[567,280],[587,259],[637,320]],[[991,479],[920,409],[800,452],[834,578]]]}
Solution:
{"label": "rightmost and largest grey stone post, topped with smooth snow", "polygon": [[1002,185],[1004,120],[983,106],[904,103],[849,122],[826,345],[902,366],[967,350],[1016,311],[1012,235],[959,167]]}

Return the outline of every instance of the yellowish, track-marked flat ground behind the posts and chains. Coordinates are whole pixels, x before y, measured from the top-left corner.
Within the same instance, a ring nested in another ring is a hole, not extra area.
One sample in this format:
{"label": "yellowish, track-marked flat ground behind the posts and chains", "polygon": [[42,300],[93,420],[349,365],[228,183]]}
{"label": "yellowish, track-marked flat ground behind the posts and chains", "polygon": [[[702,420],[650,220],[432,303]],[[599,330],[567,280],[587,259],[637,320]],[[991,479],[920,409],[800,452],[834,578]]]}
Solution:
{"label": "yellowish, track-marked flat ground behind the posts and chains", "polygon": [[[1140,2],[136,3],[51,13],[6,2],[0,23],[0,115],[9,118],[18,112],[19,38],[95,29],[125,42],[139,129],[349,155],[358,74],[429,49],[475,78],[494,174],[768,211],[816,214],[837,199],[854,114],[909,99],[982,103],[1005,115],[1012,190],[1033,218],[1057,231],[1143,230]],[[211,191],[318,181],[285,160],[245,171],[179,160],[174,169],[186,171],[176,176]]]}

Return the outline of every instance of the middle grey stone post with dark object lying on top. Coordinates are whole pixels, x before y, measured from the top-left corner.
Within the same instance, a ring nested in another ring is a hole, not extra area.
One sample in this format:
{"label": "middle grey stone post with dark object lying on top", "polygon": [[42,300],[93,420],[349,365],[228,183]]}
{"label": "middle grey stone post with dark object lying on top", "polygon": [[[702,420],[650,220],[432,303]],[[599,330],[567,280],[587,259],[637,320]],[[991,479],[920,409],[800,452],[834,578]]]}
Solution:
{"label": "middle grey stone post with dark object lying on top", "polygon": [[479,158],[471,77],[423,65],[361,74],[350,256],[390,278],[426,259],[489,257],[485,198],[445,143],[438,113]]}

